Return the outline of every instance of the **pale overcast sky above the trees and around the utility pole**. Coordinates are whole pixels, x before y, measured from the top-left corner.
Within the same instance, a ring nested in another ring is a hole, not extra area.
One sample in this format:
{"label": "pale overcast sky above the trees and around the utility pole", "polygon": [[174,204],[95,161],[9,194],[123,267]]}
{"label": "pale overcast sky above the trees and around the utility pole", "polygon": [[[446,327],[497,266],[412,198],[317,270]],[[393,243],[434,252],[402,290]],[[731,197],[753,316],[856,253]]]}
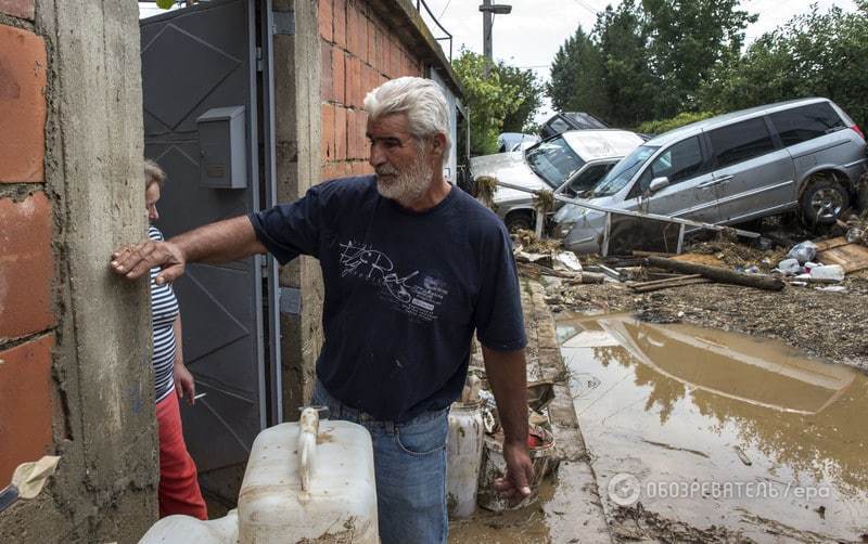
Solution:
{"label": "pale overcast sky above the trees and around the utility pole", "polygon": [[[412,0],[416,2],[416,0]],[[431,12],[452,35],[452,55],[458,56],[461,47],[482,53],[481,0],[424,0]],[[815,0],[742,0],[741,7],[760,17],[748,27],[748,42],[786,24],[790,18],[810,10]],[[493,3],[509,3],[512,13],[495,15],[493,26],[493,53],[496,61],[521,68],[533,68],[537,76],[548,81],[549,67],[558,48],[575,33],[580,24],[589,31],[597,21],[597,12],[609,3],[616,5],[618,0],[494,0]],[[853,0],[816,0],[821,12],[832,5],[845,11],[855,11]],[[424,8],[424,17],[427,17]],[[430,21],[430,20],[429,20]],[[443,33],[429,22],[434,37]],[[448,57],[449,42],[441,41]],[[546,120],[551,109],[546,100],[544,111],[536,121]]]}

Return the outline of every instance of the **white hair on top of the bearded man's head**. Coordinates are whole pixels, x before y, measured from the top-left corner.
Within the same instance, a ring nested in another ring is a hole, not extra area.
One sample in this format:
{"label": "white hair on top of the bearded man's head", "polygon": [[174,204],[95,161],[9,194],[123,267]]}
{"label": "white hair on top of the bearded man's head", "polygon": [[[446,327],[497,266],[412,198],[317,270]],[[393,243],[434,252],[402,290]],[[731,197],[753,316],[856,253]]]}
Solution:
{"label": "white hair on top of the bearded man's head", "polygon": [[371,120],[386,115],[406,114],[408,130],[417,139],[443,134],[443,163],[449,159],[449,106],[441,88],[431,79],[399,77],[391,79],[365,96],[365,111]]}

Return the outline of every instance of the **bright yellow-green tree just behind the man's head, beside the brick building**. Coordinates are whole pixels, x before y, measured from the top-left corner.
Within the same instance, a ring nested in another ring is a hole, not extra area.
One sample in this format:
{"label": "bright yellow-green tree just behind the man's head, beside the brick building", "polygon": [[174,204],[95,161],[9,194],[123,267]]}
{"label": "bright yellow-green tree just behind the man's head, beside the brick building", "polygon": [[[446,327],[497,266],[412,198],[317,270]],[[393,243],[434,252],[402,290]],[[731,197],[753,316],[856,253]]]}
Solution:
{"label": "bright yellow-green tree just behind the man's head, beside the brick building", "polygon": [[[464,104],[470,109],[470,152],[488,155],[497,152],[497,134],[503,120],[522,104],[522,90],[503,81],[497,65],[472,51],[461,50],[452,61],[455,70],[464,87]],[[465,133],[459,128],[459,146]]]}

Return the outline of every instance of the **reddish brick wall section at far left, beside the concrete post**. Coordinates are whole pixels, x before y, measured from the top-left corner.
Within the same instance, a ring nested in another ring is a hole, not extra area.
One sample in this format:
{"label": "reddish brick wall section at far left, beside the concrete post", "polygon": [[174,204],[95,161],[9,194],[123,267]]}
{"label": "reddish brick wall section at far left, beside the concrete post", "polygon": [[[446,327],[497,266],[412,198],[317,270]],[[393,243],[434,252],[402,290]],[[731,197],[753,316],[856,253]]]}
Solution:
{"label": "reddish brick wall section at far left, beside the concrete post", "polygon": [[[52,451],[52,203],[46,41],[34,0],[0,0],[0,488]],[[15,18],[13,18],[15,17]],[[14,26],[13,26],[14,25]]]}

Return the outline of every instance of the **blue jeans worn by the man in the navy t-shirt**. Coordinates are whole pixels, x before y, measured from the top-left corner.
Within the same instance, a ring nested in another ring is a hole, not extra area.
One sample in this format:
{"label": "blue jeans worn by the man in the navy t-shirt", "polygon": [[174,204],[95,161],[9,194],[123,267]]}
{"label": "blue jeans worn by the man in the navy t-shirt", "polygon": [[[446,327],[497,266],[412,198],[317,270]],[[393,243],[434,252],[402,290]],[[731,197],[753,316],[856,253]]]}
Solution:
{"label": "blue jeans worn by the man in the navy t-shirt", "polygon": [[342,404],[319,380],[312,404],[329,406],[331,419],[359,424],[371,433],[382,544],[446,544],[448,410],[400,424],[378,422]]}

